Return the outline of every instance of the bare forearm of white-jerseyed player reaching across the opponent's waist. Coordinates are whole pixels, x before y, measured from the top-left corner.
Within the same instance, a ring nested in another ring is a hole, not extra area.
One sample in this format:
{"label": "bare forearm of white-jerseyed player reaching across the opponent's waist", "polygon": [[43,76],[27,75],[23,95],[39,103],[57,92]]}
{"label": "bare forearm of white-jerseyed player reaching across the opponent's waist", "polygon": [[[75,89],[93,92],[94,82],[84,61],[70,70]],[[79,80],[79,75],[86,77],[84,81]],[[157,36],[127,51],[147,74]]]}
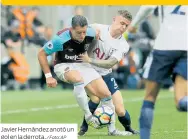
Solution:
{"label": "bare forearm of white-jerseyed player reaching across the opponent's waist", "polygon": [[115,57],[111,57],[108,60],[97,60],[97,59],[90,58],[87,53],[80,55],[78,60],[82,62],[90,63],[97,67],[105,68],[105,69],[110,69],[115,64],[118,63],[118,60]]}

